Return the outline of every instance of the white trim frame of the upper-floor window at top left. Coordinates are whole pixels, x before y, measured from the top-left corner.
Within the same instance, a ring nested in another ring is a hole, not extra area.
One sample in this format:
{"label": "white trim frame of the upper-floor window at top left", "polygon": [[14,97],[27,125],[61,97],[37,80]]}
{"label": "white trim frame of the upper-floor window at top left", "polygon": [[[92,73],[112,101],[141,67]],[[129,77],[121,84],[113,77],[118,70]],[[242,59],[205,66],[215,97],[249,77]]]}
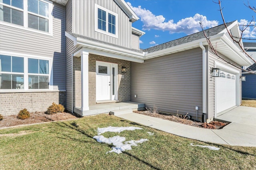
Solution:
{"label": "white trim frame of the upper-floor window at top left", "polygon": [[[49,32],[45,32],[45,31],[40,31],[40,30],[37,30],[37,29],[32,29],[32,28],[29,28],[28,27],[28,1],[27,0],[24,0],[23,2],[23,7],[24,9],[20,9],[20,8],[17,8],[19,9],[19,11],[22,11],[23,12],[23,19],[24,19],[24,22],[23,22],[23,25],[24,26],[20,26],[20,25],[16,25],[16,24],[13,24],[13,23],[8,23],[8,22],[4,22],[4,21],[0,21],[0,25],[5,25],[5,26],[8,26],[8,27],[14,27],[14,28],[17,28],[17,29],[22,29],[22,30],[26,30],[26,31],[30,31],[30,32],[34,32],[34,33],[40,33],[40,34],[44,34],[44,35],[49,35],[49,36],[53,36],[53,15],[52,15],[52,10],[53,10],[53,4],[51,1],[49,0],[40,0],[40,1],[43,1],[43,2],[46,2],[49,4],[49,16],[48,18],[47,17],[43,17],[43,16],[40,16],[42,18],[47,18],[49,20],[49,23],[48,23],[48,31]],[[0,3],[1,5],[4,5],[4,6],[8,6],[9,5],[6,5],[6,4],[3,4],[3,3]],[[16,9],[15,7],[12,7],[11,8],[14,8]],[[32,14],[32,13],[31,13]]]}

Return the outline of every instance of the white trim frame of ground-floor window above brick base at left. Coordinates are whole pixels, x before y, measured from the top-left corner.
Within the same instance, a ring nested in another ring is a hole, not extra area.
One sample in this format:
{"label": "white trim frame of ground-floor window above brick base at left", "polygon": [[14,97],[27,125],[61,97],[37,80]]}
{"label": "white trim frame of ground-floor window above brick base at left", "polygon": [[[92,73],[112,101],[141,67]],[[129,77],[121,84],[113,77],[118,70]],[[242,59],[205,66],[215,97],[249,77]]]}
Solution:
{"label": "white trim frame of ground-floor window above brick base at left", "polygon": [[[0,51],[0,55],[8,55],[8,56],[14,56],[14,57],[22,57],[24,58],[24,89],[15,90],[15,89],[1,89],[1,92],[32,92],[32,91],[44,91],[44,90],[53,90],[53,58],[51,57],[43,57],[43,56],[37,56],[37,55],[30,55],[30,54],[24,54],[24,53],[15,53],[15,52],[8,52],[8,51]],[[40,59],[40,60],[47,60],[49,61],[49,73],[48,74],[34,74],[34,75],[42,75],[42,76],[49,76],[49,89],[28,89],[28,75],[32,75],[28,73],[28,59]],[[5,72],[1,72],[5,73]],[[7,72],[6,72],[7,73]],[[10,72],[8,72],[10,74]],[[12,74],[15,74],[15,72],[12,72]],[[17,73],[21,74],[21,73]]]}

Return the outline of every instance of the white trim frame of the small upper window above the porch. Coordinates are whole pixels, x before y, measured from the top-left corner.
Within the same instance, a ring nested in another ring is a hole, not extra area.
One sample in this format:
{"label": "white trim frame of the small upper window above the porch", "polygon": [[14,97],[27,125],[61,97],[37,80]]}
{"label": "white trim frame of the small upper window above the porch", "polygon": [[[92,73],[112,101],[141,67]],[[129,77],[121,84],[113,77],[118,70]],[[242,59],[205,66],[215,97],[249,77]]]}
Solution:
{"label": "white trim frame of the small upper window above the porch", "polygon": [[[98,8],[106,12],[106,31],[98,29]],[[108,14],[112,14],[116,17],[116,34],[112,34],[108,32]],[[109,35],[111,37],[118,38],[118,14],[99,6],[98,4],[94,4],[94,31]]]}

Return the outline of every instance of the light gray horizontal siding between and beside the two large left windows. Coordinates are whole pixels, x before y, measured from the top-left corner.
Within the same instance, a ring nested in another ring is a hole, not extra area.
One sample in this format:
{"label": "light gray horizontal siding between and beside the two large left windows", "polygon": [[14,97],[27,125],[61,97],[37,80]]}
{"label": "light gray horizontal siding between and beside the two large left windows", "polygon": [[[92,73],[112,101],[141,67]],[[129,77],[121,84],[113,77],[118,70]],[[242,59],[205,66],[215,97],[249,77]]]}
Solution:
{"label": "light gray horizontal siding between and beside the two large left windows", "polygon": [[53,3],[53,36],[0,25],[0,50],[53,58],[54,90],[65,90],[65,7]]}

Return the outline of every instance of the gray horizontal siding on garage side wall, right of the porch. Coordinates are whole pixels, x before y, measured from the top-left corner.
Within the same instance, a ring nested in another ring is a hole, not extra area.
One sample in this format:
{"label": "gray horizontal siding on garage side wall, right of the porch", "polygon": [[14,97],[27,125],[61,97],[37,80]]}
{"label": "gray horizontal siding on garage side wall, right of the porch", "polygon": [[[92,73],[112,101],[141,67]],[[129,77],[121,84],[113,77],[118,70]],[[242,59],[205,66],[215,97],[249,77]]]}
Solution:
{"label": "gray horizontal siding on garage side wall, right of the porch", "polygon": [[[202,115],[202,49],[131,64],[131,100],[160,111]],[[134,98],[137,94],[138,98]]]}

